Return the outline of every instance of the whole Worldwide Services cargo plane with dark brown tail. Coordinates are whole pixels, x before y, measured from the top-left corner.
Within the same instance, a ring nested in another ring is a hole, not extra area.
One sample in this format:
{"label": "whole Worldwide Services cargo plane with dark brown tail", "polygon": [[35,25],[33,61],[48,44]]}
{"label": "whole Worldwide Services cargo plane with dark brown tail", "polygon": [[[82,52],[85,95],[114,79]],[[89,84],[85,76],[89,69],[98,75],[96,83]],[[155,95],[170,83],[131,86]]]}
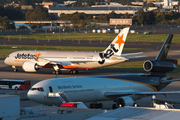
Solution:
{"label": "whole Worldwide Services cargo plane with dark brown tail", "polygon": [[113,108],[133,106],[135,101],[149,95],[176,94],[180,91],[161,92],[168,84],[180,79],[167,76],[176,68],[177,60],[167,59],[173,35],[169,35],[155,60],[146,60],[143,68],[150,73],[117,74],[89,77],[54,78],[36,83],[28,92],[29,99],[46,104],[64,102],[94,102],[91,108],[100,107],[98,101],[113,100]]}

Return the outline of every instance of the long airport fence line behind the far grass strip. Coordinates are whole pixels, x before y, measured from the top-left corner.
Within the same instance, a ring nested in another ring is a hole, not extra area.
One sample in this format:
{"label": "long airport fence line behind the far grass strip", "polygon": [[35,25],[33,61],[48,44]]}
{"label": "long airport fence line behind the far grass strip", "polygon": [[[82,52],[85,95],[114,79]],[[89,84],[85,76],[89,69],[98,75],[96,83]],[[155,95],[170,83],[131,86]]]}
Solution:
{"label": "long airport fence line behind the far grass strip", "polygon": [[[121,30],[125,26],[91,26],[91,27],[54,27],[52,28],[38,28],[32,30],[24,29],[7,29],[0,30],[0,35],[15,35],[15,34],[38,34],[38,33],[114,33],[115,30]],[[180,33],[180,25],[145,25],[145,26],[131,26],[131,30],[135,30],[139,33],[150,31],[151,33]],[[104,31],[104,32],[103,32]]]}

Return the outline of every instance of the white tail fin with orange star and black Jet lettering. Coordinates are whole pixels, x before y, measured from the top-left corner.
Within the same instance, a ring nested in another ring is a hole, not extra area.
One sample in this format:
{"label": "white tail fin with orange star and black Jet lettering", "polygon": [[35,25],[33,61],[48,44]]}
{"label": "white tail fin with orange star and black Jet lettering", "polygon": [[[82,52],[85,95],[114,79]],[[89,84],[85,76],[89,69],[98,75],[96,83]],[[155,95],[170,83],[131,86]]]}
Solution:
{"label": "white tail fin with orange star and black Jet lettering", "polygon": [[129,32],[129,27],[124,28],[111,42],[111,44],[103,51],[107,55],[118,55],[120,56]]}

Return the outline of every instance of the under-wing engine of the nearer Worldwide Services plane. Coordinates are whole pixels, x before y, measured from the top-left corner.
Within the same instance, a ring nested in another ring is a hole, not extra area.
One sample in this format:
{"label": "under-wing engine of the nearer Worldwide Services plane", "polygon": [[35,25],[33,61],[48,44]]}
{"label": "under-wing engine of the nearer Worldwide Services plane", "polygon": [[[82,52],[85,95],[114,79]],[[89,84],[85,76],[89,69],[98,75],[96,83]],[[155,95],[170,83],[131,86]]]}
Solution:
{"label": "under-wing engine of the nearer Worldwide Services plane", "polygon": [[133,106],[134,100],[129,96],[119,97],[116,100],[116,105],[117,107]]}

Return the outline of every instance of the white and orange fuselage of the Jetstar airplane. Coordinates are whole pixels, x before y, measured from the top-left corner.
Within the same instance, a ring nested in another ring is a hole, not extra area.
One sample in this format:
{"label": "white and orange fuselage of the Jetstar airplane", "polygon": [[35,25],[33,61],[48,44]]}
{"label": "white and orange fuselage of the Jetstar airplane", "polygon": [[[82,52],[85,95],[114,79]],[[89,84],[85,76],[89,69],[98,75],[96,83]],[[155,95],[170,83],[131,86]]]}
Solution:
{"label": "white and orange fuselage of the Jetstar airplane", "polygon": [[[111,56],[106,59],[103,64],[99,64],[98,61],[102,59],[99,56],[99,52],[67,52],[67,51],[17,51],[11,53],[6,59],[5,63],[11,66],[22,66],[24,62],[34,61],[37,62],[33,56],[39,55],[47,61],[56,62],[67,62],[68,65],[62,65],[61,68],[67,69],[93,69],[100,68],[108,65],[113,65],[116,63],[124,62],[126,59],[124,57]],[[42,64],[42,65],[41,65]],[[44,68],[50,66],[44,66],[46,62],[41,62]]]}

